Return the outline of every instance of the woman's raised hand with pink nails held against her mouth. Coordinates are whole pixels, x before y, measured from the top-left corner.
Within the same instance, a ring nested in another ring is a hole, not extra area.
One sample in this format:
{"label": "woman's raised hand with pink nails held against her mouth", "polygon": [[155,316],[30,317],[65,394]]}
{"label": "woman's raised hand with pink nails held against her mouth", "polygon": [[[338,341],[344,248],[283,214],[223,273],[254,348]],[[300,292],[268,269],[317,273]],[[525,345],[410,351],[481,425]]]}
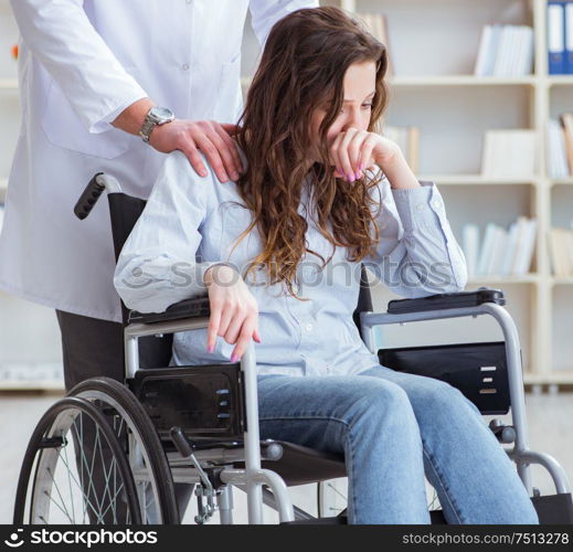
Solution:
{"label": "woman's raised hand with pink nails held against her mouth", "polygon": [[350,127],[341,131],[330,146],[335,176],[353,182],[363,177],[363,170],[378,164],[392,164],[402,155],[397,144],[378,132]]}

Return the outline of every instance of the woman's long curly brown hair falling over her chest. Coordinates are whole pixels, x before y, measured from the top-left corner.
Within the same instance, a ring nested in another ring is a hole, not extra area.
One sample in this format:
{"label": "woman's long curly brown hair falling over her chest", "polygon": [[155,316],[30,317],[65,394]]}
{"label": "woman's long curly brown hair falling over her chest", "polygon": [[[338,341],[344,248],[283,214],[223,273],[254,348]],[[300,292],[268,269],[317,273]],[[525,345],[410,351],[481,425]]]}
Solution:
{"label": "woman's long curly brown hair falling over her chest", "polygon": [[[319,161],[310,168],[312,209],[318,231],[336,246],[347,247],[347,258],[359,262],[379,241],[374,173],[352,183],[336,178],[330,167],[327,131],[344,99],[343,78],[354,63],[375,62],[375,95],[368,130],[374,131],[388,104],[384,75],[385,46],[361,23],[339,8],[300,9],[272,29],[261,63],[248,89],[236,139],[248,161],[237,181],[238,193],[252,212],[252,223],[236,244],[256,225],[263,251],[248,265],[245,277],[265,266],[270,284],[285,282],[296,296],[297,266],[307,248],[307,222],[297,208],[308,176],[310,119],[317,106],[326,116],[319,127]],[[331,225],[331,231],[329,230]],[[372,227],[374,234],[372,235]],[[235,244],[235,246],[236,246]]]}

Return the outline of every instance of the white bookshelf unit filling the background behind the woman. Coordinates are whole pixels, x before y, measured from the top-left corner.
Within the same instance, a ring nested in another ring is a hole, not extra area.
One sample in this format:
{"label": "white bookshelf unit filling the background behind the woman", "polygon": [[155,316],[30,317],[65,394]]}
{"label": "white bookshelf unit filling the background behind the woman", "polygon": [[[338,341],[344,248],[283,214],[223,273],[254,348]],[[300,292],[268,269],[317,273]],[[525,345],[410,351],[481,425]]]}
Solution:
{"label": "white bookshelf unit filling the background behind the woman", "polygon": [[[328,0],[352,13],[383,13],[394,74],[389,78],[390,105],[384,123],[420,128],[418,179],[437,183],[458,242],[465,222],[484,230],[495,220],[508,225],[518,215],[538,219],[538,238],[530,273],[520,276],[471,278],[467,289],[481,285],[502,288],[508,310],[520,332],[526,382],[573,384],[572,341],[565,332],[573,321],[573,276],[552,276],[547,236],[573,213],[573,177],[548,178],[545,131],[549,117],[573,112],[573,75],[548,75],[547,0]],[[15,63],[9,46],[18,40],[8,0],[0,0],[0,114],[9,124],[0,134],[0,202],[6,195],[9,161],[18,136]],[[474,76],[485,24],[526,24],[534,31],[533,73],[526,76]],[[423,46],[423,47],[421,47]],[[246,91],[258,61],[258,42],[245,25],[242,84]],[[542,137],[540,171],[531,178],[488,179],[480,174],[484,134],[498,128],[529,128]],[[569,205],[569,206],[567,206]],[[570,216],[571,217],[571,216]],[[374,307],[396,298],[373,285]],[[51,309],[0,293],[0,368],[9,362],[61,362],[60,336]],[[4,316],[7,314],[7,316]],[[25,320],[25,322],[24,322]],[[569,323],[567,323],[569,322]],[[22,328],[26,336],[22,337]],[[19,330],[19,331],[15,331]],[[444,339],[447,336],[447,339]],[[502,339],[492,320],[432,321],[388,327],[381,344],[436,344]],[[25,347],[30,340],[32,348]],[[26,351],[22,355],[21,351]],[[24,358],[25,357],[25,358]],[[0,389],[54,382],[0,380]],[[57,385],[57,384],[56,384]]]}

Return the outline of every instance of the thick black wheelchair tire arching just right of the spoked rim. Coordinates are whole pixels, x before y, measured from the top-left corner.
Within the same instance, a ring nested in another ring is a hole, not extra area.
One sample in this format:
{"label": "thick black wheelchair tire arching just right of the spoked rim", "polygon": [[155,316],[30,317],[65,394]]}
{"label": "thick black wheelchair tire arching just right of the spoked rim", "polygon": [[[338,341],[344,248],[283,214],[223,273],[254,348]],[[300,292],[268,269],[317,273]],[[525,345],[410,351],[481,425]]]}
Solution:
{"label": "thick black wheelchair tire arching just right of the spoked rim", "polygon": [[[127,426],[142,448],[156,500],[159,508],[159,522],[179,524],[180,517],[173,488],[173,477],[153,423],[141,403],[124,384],[110,378],[91,378],[75,385],[68,393],[89,402],[104,402],[126,421]],[[145,519],[145,518],[144,518]]]}

